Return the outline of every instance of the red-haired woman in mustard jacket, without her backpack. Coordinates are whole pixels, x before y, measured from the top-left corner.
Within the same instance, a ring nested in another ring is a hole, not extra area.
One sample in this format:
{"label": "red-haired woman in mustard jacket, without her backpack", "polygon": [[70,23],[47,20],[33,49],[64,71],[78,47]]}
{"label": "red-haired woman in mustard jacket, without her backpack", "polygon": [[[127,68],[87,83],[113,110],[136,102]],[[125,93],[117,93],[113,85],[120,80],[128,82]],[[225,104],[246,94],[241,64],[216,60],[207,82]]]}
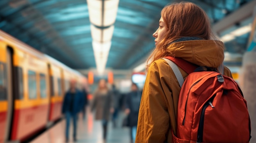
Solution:
{"label": "red-haired woman in mustard jacket, without her backpack", "polygon": [[[223,66],[224,44],[213,34],[207,14],[191,2],[164,7],[159,28],[153,37],[155,49],[148,58],[135,142],[172,143],[173,135],[177,133],[181,87],[173,69],[161,58],[179,58],[193,66],[207,66],[232,76],[230,70]],[[188,74],[180,68],[182,65],[177,66],[183,79],[186,79]],[[191,117],[186,119],[193,120]]]}

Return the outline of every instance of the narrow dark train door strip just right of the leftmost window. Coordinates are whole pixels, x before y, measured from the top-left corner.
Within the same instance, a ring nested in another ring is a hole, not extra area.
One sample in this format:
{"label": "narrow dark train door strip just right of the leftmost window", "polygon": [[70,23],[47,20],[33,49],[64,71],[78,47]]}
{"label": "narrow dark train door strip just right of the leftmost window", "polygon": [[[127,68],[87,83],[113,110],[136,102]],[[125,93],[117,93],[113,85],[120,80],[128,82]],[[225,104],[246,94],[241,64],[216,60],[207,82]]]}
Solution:
{"label": "narrow dark train door strip just right of the leftmost window", "polygon": [[9,133],[11,130],[11,118],[12,118],[12,112],[13,112],[13,84],[12,84],[12,49],[7,48],[7,62],[6,62],[6,69],[7,69],[7,124],[5,127],[5,141],[9,138]]}

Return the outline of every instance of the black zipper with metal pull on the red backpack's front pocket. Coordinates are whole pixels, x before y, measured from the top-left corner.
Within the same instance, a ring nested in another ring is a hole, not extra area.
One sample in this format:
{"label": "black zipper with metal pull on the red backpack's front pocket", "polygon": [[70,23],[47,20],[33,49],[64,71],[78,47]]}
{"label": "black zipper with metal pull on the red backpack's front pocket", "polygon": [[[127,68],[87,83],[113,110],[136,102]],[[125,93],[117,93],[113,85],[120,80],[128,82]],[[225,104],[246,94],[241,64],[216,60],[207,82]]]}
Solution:
{"label": "black zipper with metal pull on the red backpack's front pocket", "polygon": [[215,108],[212,104],[212,101],[214,99],[216,95],[214,95],[213,97],[211,97],[211,99],[209,99],[209,101],[207,101],[202,109],[202,113],[201,113],[201,117],[200,117],[200,121],[199,121],[199,126],[198,126],[198,140],[196,141],[196,143],[201,143],[203,141],[203,130],[204,130],[204,114],[205,114],[205,110],[208,106],[211,106],[211,108]]}

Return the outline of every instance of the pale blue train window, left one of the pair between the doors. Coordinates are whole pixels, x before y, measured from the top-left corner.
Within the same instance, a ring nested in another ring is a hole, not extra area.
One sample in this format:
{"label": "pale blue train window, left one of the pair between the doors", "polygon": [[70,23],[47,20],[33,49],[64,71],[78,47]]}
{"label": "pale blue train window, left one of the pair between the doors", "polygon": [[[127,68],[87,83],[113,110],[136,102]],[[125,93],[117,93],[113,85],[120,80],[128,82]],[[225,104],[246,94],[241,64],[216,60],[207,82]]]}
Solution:
{"label": "pale blue train window, left one of the pair between the doors", "polygon": [[29,70],[29,99],[36,99],[36,73]]}

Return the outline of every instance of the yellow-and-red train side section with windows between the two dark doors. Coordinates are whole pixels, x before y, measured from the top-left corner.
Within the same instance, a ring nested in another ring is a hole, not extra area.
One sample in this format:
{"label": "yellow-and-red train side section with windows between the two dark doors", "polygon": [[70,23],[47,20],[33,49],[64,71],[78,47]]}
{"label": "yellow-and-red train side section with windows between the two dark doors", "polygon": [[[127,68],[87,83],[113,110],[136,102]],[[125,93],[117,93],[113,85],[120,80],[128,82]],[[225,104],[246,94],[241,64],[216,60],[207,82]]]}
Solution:
{"label": "yellow-and-red train side section with windows between the two dark doors", "polygon": [[49,108],[49,75],[42,58],[13,50],[13,66],[18,77],[11,140],[24,140],[45,127]]}

